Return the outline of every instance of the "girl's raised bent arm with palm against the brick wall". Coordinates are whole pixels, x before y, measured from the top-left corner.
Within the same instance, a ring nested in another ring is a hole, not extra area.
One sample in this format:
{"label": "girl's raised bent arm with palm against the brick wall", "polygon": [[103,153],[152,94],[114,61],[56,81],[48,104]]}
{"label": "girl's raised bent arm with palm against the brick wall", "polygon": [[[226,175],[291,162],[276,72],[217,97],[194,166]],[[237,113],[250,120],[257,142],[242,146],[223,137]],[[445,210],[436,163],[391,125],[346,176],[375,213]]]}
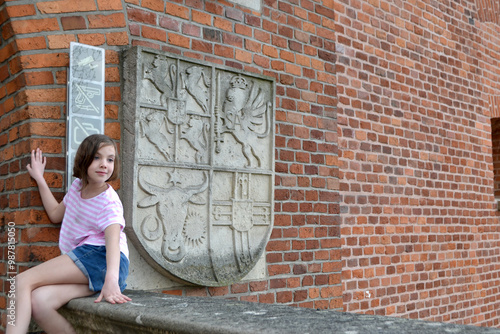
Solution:
{"label": "girl's raised bent arm with palm against the brick wall", "polygon": [[37,148],[36,151],[31,151],[31,164],[26,166],[31,177],[35,179],[42,198],[43,207],[53,223],[60,223],[64,217],[66,206],[64,202],[57,202],[56,198],[50,191],[50,188],[43,177],[47,160],[42,156],[42,151]]}

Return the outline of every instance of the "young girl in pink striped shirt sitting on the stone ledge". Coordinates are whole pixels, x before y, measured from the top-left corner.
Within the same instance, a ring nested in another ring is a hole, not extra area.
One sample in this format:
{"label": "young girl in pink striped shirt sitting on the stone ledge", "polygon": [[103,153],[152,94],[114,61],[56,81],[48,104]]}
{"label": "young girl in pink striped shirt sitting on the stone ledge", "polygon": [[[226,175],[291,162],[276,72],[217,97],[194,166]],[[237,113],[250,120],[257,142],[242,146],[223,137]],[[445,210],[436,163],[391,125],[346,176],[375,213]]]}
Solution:
{"label": "young girl in pink striped shirt sitting on the stone ledge", "polygon": [[62,221],[62,255],[17,275],[15,326],[7,326],[8,334],[26,333],[31,316],[49,334],[75,333],[57,310],[73,298],[97,291],[96,303],[130,301],[122,294],[129,265],[123,207],[106,183],[118,175],[114,142],[91,135],[81,143],[73,168],[77,179],[60,203],[43,177],[45,165],[46,158],[37,149],[26,168],[38,184],[50,220]]}

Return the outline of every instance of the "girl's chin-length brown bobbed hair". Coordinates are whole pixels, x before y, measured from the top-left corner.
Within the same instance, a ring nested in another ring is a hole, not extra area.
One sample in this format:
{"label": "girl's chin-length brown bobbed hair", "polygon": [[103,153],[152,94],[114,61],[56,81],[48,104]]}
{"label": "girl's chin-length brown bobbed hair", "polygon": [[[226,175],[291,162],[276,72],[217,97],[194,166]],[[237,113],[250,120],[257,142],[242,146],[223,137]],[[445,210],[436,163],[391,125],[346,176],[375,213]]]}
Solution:
{"label": "girl's chin-length brown bobbed hair", "polygon": [[118,178],[118,174],[120,173],[120,163],[118,160],[118,150],[116,149],[115,142],[106,135],[90,135],[85,138],[78,147],[75,155],[75,163],[73,165],[73,176],[82,180],[82,189],[89,183],[87,170],[92,164],[92,161],[94,161],[97,151],[99,151],[102,146],[107,145],[114,147],[115,159],[113,174],[111,174],[111,177],[106,181],[113,181]]}

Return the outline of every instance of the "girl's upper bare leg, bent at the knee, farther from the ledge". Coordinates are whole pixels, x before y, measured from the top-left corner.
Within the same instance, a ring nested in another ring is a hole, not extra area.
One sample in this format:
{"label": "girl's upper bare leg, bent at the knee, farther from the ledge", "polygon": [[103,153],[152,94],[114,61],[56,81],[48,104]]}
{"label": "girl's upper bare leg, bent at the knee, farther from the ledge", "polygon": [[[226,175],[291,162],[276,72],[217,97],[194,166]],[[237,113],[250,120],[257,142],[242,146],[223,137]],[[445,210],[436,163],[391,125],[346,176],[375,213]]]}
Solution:
{"label": "girl's upper bare leg, bent at the knee, farther from the ledge", "polygon": [[15,326],[7,324],[7,334],[25,334],[28,331],[31,292],[53,284],[88,284],[88,279],[68,255],[60,255],[17,275]]}

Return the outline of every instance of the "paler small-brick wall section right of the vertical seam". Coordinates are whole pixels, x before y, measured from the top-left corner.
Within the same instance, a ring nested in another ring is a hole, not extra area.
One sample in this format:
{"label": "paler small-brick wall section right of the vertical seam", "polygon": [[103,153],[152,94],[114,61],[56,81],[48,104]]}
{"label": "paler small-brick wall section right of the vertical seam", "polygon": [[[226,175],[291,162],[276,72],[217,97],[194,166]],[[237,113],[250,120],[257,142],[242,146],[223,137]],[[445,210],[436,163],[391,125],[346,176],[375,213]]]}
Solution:
{"label": "paler small-brick wall section right of the vertical seam", "polygon": [[487,3],[335,1],[346,311],[500,324]]}

